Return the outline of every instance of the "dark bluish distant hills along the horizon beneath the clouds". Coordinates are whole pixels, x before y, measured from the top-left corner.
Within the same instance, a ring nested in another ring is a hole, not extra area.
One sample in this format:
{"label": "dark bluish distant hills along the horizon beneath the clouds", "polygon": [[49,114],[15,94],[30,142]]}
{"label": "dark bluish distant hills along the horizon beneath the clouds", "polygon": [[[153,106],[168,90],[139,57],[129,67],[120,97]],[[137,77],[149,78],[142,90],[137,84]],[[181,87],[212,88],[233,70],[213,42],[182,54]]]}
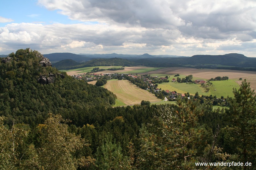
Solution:
{"label": "dark bluish distant hills along the horizon beneath the clouds", "polygon": [[[95,54],[94,57],[102,56],[102,58],[85,57],[91,59],[82,63],[75,63],[71,60],[64,60],[53,63],[58,69],[74,69],[89,66],[111,66],[124,65],[136,66],[144,65],[149,67],[191,67],[191,68],[210,68],[210,69],[235,69],[256,71],[256,58],[249,58],[243,54],[225,54],[225,55],[195,55],[192,57],[176,56],[162,57],[152,56],[150,54],[136,55],[131,58],[108,58],[110,56],[118,56],[123,54]],[[79,55],[78,55],[79,56]],[[83,57],[86,55],[82,55]],[[105,58],[104,58],[105,57]],[[51,59],[50,59],[51,60]],[[232,67],[230,67],[232,66]]]}

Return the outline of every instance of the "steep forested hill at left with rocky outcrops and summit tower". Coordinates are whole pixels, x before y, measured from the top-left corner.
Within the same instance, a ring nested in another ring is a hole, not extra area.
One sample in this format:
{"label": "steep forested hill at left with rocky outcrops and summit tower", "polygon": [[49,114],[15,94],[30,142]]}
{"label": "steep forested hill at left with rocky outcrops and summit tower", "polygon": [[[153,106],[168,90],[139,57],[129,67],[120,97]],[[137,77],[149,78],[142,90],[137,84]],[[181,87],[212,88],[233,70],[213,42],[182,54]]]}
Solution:
{"label": "steep forested hill at left with rocky outcrops and summit tower", "polygon": [[42,67],[38,51],[20,49],[9,57],[0,60],[0,115],[9,118],[9,125],[43,123],[48,113],[81,121],[86,110],[115,103],[115,95],[102,87]]}

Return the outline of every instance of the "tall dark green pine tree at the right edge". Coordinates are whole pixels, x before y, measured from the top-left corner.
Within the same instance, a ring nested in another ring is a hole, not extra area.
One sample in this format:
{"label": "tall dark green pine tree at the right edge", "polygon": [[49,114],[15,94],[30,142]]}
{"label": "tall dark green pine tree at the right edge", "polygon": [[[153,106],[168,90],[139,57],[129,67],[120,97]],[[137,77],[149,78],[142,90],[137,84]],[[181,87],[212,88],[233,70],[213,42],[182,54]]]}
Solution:
{"label": "tall dark green pine tree at the right edge", "polygon": [[[240,88],[233,89],[234,98],[230,103],[230,131],[235,141],[235,149],[243,162],[251,162],[255,165],[255,141],[256,141],[256,97],[254,90],[251,90],[250,83],[246,79]],[[244,169],[247,169],[245,166]]]}

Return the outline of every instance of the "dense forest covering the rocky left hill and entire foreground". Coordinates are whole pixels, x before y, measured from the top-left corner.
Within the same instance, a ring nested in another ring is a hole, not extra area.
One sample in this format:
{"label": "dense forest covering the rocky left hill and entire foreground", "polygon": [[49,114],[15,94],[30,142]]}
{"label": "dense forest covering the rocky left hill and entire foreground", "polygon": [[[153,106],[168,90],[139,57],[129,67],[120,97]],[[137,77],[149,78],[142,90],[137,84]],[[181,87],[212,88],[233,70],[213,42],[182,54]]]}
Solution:
{"label": "dense forest covering the rocky left hill and entire foreground", "polygon": [[196,98],[112,107],[112,92],[42,67],[38,51],[9,57],[0,60],[0,169],[255,168],[256,101],[246,80],[225,110]]}

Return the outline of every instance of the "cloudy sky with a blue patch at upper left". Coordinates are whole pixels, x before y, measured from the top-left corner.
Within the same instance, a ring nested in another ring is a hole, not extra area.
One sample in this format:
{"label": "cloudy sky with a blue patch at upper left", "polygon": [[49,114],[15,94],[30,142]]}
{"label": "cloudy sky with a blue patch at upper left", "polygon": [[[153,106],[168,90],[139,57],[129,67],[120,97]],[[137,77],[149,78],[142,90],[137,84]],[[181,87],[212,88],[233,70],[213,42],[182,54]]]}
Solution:
{"label": "cloudy sky with a blue patch at upper left", "polygon": [[8,0],[0,54],[240,53],[256,57],[255,0]]}

